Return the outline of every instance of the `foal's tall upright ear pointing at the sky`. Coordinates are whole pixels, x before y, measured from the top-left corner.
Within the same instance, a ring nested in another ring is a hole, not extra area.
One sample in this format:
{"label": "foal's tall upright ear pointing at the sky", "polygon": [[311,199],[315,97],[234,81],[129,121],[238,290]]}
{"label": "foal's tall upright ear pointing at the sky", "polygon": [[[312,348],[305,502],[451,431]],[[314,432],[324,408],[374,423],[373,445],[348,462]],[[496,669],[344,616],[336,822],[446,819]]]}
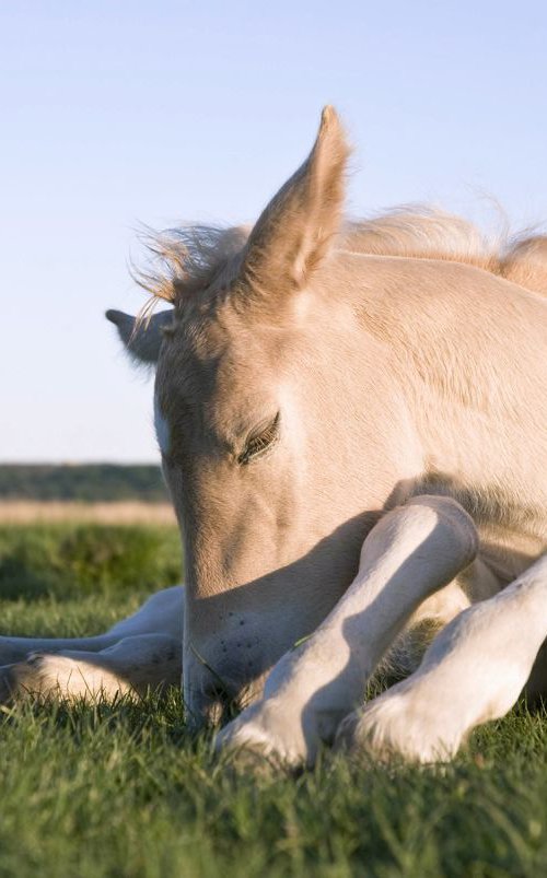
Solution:
{"label": "foal's tall upright ear pointing at the sky", "polygon": [[328,253],[340,224],[348,154],[338,116],[325,107],[312,152],[249,235],[241,277],[256,293],[301,289]]}

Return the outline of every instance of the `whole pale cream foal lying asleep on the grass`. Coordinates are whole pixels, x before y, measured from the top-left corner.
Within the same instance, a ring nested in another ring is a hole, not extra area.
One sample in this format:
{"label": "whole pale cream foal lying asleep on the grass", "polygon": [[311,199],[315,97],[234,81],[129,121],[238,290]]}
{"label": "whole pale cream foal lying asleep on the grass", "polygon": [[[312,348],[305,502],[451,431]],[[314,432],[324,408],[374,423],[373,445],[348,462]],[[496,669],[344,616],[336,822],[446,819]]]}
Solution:
{"label": "whole pale cream foal lying asleep on the grass", "polygon": [[[546,693],[547,238],[344,222],[347,153],[327,108],[254,229],[153,239],[140,281],[173,307],[107,316],[156,368],[186,588],[98,637],[2,639],[4,699],[183,667],[194,722],[244,707],[219,748],[310,765],[333,744],[449,759]],[[386,657],[408,676],[363,705]]]}

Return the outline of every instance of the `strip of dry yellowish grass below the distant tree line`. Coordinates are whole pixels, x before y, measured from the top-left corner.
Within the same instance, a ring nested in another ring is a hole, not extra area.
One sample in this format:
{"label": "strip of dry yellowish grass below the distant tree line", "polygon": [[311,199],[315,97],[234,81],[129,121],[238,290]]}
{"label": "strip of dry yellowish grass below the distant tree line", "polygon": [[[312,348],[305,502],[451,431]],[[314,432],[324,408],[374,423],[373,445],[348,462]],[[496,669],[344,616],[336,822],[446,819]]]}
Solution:
{"label": "strip of dry yellowish grass below the distant tree line", "polygon": [[1,500],[0,524],[54,522],[96,522],[112,525],[175,524],[168,503],[65,503],[31,500]]}

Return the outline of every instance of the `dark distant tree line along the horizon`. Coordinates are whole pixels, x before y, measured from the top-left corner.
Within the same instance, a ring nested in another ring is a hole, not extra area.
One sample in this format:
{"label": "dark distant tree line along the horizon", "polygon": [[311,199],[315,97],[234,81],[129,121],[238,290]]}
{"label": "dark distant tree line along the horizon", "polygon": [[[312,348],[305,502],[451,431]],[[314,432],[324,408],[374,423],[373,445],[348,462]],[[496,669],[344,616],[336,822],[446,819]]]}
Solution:
{"label": "dark distant tree line along the horizon", "polygon": [[160,503],[167,492],[158,466],[5,464],[0,465],[0,500]]}

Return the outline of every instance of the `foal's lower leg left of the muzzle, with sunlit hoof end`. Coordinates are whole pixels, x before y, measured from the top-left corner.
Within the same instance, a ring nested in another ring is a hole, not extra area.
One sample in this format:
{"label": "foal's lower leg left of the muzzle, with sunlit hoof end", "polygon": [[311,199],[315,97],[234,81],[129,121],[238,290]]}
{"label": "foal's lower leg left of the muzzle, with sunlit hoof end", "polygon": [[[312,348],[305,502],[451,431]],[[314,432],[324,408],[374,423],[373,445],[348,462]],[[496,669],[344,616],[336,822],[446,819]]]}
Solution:
{"label": "foal's lower leg left of the muzzle, with sunlit hoof end", "polygon": [[26,694],[70,701],[143,695],[149,690],[181,686],[181,637],[137,634],[98,653],[63,649],[35,654],[0,668],[0,702]]}

